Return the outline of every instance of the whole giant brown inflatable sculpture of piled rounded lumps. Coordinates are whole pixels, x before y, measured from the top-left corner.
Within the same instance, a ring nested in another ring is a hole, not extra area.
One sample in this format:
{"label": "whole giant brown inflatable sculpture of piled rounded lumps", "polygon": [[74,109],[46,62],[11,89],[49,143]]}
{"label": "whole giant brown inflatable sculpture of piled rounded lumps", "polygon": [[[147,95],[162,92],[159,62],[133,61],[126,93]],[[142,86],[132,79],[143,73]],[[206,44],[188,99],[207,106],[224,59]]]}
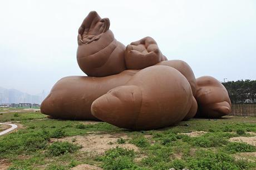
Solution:
{"label": "whole giant brown inflatable sculpture of piled rounded lumps", "polygon": [[95,11],[83,20],[77,62],[87,76],[60,79],[41,104],[43,114],[145,130],[231,112],[228,92],[216,79],[195,79],[186,62],[168,61],[151,37],[125,47],[109,27]]}

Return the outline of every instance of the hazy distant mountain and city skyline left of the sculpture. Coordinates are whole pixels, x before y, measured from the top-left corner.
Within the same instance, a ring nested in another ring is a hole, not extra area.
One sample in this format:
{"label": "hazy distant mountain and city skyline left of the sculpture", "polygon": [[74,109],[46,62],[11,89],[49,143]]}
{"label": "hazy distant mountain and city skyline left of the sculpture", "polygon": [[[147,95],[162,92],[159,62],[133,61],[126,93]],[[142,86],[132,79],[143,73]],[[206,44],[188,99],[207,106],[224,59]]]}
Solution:
{"label": "hazy distant mountain and city skyline left of the sculpture", "polygon": [[6,89],[0,87],[0,103],[38,103],[40,104],[46,94],[42,93],[31,95],[18,91],[17,89]]}

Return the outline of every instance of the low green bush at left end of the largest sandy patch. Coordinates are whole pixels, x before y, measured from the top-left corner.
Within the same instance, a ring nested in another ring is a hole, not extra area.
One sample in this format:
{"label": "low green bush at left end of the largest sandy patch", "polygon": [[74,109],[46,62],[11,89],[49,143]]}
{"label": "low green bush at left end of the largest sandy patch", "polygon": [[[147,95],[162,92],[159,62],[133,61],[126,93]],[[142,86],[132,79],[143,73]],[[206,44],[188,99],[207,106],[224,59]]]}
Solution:
{"label": "low green bush at left end of the largest sandy patch", "polygon": [[80,147],[68,142],[54,142],[48,147],[48,154],[51,156],[60,156],[65,153],[73,153]]}

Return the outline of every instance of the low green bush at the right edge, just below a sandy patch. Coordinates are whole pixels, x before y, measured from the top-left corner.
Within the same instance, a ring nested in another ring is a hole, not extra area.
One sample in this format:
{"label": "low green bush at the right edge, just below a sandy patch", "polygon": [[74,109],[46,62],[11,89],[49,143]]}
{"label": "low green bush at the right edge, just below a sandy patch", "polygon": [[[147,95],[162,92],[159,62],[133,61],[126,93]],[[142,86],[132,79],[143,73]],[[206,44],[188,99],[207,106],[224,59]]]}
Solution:
{"label": "low green bush at the right edge, just below a sandy patch", "polygon": [[236,152],[254,152],[256,147],[244,142],[229,142],[225,149],[231,153]]}

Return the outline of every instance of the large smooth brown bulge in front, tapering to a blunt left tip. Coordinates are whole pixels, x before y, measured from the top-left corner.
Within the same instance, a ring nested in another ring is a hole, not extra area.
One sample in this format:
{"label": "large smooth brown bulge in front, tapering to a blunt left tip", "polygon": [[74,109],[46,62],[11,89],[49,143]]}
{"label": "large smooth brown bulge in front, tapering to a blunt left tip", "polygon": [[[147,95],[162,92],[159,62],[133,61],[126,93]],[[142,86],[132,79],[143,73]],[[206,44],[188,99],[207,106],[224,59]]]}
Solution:
{"label": "large smooth brown bulge in front, tapering to a blunt left tip", "polygon": [[151,66],[125,86],[111,89],[91,106],[93,116],[122,128],[155,129],[181,121],[193,94],[188,80],[174,68]]}

